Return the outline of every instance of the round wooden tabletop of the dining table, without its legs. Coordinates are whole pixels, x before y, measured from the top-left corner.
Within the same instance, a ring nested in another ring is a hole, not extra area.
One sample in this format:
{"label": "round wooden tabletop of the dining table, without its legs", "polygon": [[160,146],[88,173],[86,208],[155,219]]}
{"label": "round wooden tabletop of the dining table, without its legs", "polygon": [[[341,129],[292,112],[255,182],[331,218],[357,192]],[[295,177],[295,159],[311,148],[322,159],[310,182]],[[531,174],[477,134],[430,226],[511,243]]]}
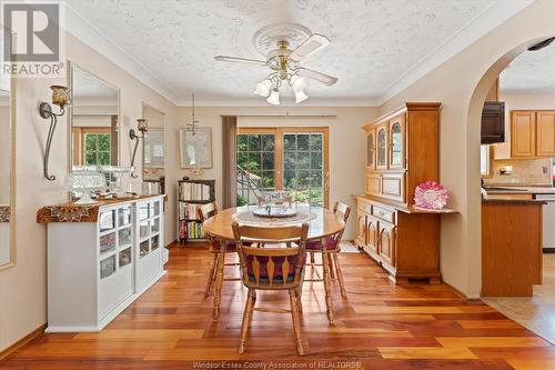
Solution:
{"label": "round wooden tabletop of the dining table, without its legs", "polygon": [[[202,228],[204,232],[208,232],[212,237],[233,240],[233,230],[231,229],[231,224],[233,223],[233,221],[238,221],[239,223],[241,223],[241,220],[238,220],[234,216],[244,211],[253,210],[255,208],[258,207],[245,206],[224,209],[204,221],[204,223],[202,223]],[[310,227],[309,239],[321,239],[333,236],[345,227],[345,222],[343,221],[343,219],[337,217],[329,209],[321,207],[299,206],[297,210],[299,212],[312,213],[312,216],[314,217],[312,220],[306,221]],[[284,218],[280,220],[279,224],[284,226],[300,223],[302,223],[302,221],[287,222],[287,219]],[[271,227],[272,224],[275,224],[275,222],[273,222],[272,219],[260,218],[256,220],[255,224],[259,224],[261,227]]]}

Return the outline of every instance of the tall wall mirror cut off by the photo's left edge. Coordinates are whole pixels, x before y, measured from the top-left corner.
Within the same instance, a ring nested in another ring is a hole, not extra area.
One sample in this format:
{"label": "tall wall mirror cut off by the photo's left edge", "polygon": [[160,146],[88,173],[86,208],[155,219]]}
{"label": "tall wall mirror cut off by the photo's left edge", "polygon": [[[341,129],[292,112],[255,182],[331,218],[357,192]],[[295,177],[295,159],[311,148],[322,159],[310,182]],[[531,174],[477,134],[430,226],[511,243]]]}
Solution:
{"label": "tall wall mirror cut off by the photo's left edge", "polygon": [[[0,33],[0,42],[7,36]],[[0,76],[0,270],[16,263],[14,83]]]}

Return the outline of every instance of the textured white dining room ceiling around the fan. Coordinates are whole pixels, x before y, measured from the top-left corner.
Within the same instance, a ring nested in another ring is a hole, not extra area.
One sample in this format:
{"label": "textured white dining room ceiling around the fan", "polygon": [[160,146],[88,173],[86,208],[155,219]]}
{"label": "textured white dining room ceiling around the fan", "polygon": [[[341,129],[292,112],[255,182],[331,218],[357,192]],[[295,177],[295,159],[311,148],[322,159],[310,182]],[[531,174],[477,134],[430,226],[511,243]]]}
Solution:
{"label": "textured white dining room ceiling around the fan", "polygon": [[[383,96],[495,0],[68,0],[81,18],[150,71],[179,100],[253,97],[263,67],[215,62],[216,54],[262,58],[252,39],[293,22],[332,43],[306,68],[339,77],[311,81],[314,98]],[[71,30],[70,30],[71,31]],[[294,46],[292,46],[294,47]],[[289,90],[289,89],[285,89]]]}

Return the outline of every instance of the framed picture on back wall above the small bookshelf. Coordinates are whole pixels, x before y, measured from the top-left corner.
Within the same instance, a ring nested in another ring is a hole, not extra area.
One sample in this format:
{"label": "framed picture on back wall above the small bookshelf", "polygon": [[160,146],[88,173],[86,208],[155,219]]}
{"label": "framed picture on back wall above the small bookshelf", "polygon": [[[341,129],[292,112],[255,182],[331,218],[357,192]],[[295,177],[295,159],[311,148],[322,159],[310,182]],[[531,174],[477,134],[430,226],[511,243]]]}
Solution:
{"label": "framed picture on back wall above the small bookshelf", "polygon": [[212,168],[212,130],[200,127],[192,132],[179,130],[181,168]]}

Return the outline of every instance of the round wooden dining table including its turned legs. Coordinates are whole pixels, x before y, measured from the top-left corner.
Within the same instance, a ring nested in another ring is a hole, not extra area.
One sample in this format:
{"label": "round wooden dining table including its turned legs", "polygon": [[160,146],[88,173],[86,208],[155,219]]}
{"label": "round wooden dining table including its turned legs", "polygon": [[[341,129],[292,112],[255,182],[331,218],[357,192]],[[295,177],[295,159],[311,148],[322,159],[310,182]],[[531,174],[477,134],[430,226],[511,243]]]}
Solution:
{"label": "round wooden dining table including its turned legs", "polygon": [[[249,223],[260,227],[272,227],[272,226],[285,226],[285,224],[301,224],[303,222],[309,223],[309,240],[320,239],[322,243],[325,243],[326,237],[333,236],[345,228],[345,221],[340,216],[330,211],[329,209],[321,207],[309,207],[309,206],[299,206],[295,209],[297,210],[297,216],[305,216],[304,220],[302,217],[287,218],[283,219],[266,219],[266,218],[258,218],[253,217],[252,211],[258,207],[234,207],[224,209],[219,211],[216,214],[212,216],[208,220],[202,223],[202,228],[204,232],[210,237],[209,239],[220,239],[220,240],[233,240],[233,230],[232,223]],[[240,216],[250,217],[250,221],[242,222]],[[224,246],[224,243],[220,243]],[[316,252],[317,250],[315,250]],[[225,253],[228,252],[226,248],[222,247],[220,249],[220,258],[216,268],[216,279],[215,279],[215,289],[214,289],[214,308],[212,312],[212,318],[218,320],[220,317],[220,303],[222,297],[222,283],[223,283],[223,267],[225,261]],[[327,318],[330,321],[333,319],[333,303],[331,297],[331,270],[329,266],[329,257],[321,250],[322,254],[322,267],[323,267],[323,282],[324,282],[324,291],[325,291],[325,303],[327,309]],[[313,254],[311,253],[311,257]]]}

